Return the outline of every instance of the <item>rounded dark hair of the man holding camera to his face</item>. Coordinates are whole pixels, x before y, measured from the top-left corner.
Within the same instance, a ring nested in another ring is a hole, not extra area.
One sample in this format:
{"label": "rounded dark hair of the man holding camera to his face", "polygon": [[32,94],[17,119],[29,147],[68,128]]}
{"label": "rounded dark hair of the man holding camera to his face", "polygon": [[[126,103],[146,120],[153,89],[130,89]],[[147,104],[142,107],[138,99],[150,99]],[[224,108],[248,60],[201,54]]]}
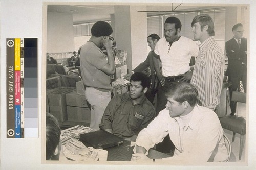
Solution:
{"label": "rounded dark hair of the man holding camera to his face", "polygon": [[91,28],[91,33],[95,37],[110,36],[112,32],[111,25],[105,21],[97,21]]}

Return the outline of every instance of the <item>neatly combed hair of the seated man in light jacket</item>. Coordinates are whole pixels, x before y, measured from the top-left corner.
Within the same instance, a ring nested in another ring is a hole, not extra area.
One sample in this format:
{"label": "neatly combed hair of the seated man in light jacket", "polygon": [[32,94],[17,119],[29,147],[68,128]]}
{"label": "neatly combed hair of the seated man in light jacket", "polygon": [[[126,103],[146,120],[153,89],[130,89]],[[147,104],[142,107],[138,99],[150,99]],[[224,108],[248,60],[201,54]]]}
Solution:
{"label": "neatly combed hair of the seated man in light jacket", "polygon": [[170,84],[165,92],[166,97],[172,97],[180,104],[187,101],[190,106],[195,106],[197,103],[198,91],[197,88],[187,82],[174,82]]}

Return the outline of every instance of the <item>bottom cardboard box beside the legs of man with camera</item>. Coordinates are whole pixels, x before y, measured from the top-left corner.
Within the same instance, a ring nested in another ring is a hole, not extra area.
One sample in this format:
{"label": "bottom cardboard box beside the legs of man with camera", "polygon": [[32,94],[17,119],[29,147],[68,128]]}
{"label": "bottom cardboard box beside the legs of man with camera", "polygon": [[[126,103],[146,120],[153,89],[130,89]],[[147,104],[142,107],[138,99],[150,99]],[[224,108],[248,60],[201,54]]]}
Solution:
{"label": "bottom cardboard box beside the legs of man with camera", "polygon": [[89,108],[67,106],[68,121],[90,123],[91,111]]}

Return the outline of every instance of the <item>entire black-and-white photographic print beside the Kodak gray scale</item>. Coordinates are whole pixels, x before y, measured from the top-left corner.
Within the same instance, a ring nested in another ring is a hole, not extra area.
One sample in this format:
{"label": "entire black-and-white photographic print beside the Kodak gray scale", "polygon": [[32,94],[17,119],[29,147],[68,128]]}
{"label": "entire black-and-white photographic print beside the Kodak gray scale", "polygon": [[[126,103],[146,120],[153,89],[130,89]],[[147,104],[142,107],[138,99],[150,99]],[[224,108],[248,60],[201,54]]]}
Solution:
{"label": "entire black-and-white photographic print beside the Kodak gray scale", "polygon": [[46,160],[246,164],[248,5],[45,7]]}

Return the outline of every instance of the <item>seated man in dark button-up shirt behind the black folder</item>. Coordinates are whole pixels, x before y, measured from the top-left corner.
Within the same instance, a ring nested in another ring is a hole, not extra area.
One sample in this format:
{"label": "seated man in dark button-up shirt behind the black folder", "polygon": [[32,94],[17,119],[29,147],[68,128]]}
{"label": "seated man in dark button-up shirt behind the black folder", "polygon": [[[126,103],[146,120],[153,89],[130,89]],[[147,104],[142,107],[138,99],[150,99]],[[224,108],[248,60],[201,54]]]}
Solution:
{"label": "seated man in dark button-up shirt behind the black folder", "polygon": [[130,92],[114,96],[106,107],[100,129],[135,141],[138,133],[155,118],[154,106],[145,97],[150,78],[142,72],[131,76]]}

